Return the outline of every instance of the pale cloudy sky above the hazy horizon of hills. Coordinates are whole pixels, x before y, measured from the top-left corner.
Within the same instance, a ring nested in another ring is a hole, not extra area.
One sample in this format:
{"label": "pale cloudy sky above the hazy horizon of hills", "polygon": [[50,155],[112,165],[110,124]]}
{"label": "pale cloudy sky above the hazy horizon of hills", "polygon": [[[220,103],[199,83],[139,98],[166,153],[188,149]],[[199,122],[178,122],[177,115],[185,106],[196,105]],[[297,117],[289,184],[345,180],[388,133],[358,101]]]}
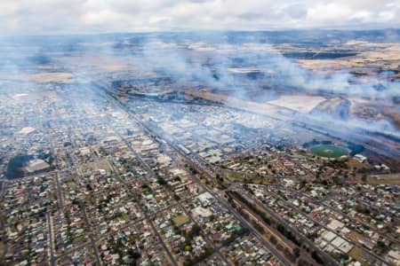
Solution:
{"label": "pale cloudy sky above the hazy horizon of hills", "polygon": [[400,0],[0,0],[0,35],[400,27]]}

